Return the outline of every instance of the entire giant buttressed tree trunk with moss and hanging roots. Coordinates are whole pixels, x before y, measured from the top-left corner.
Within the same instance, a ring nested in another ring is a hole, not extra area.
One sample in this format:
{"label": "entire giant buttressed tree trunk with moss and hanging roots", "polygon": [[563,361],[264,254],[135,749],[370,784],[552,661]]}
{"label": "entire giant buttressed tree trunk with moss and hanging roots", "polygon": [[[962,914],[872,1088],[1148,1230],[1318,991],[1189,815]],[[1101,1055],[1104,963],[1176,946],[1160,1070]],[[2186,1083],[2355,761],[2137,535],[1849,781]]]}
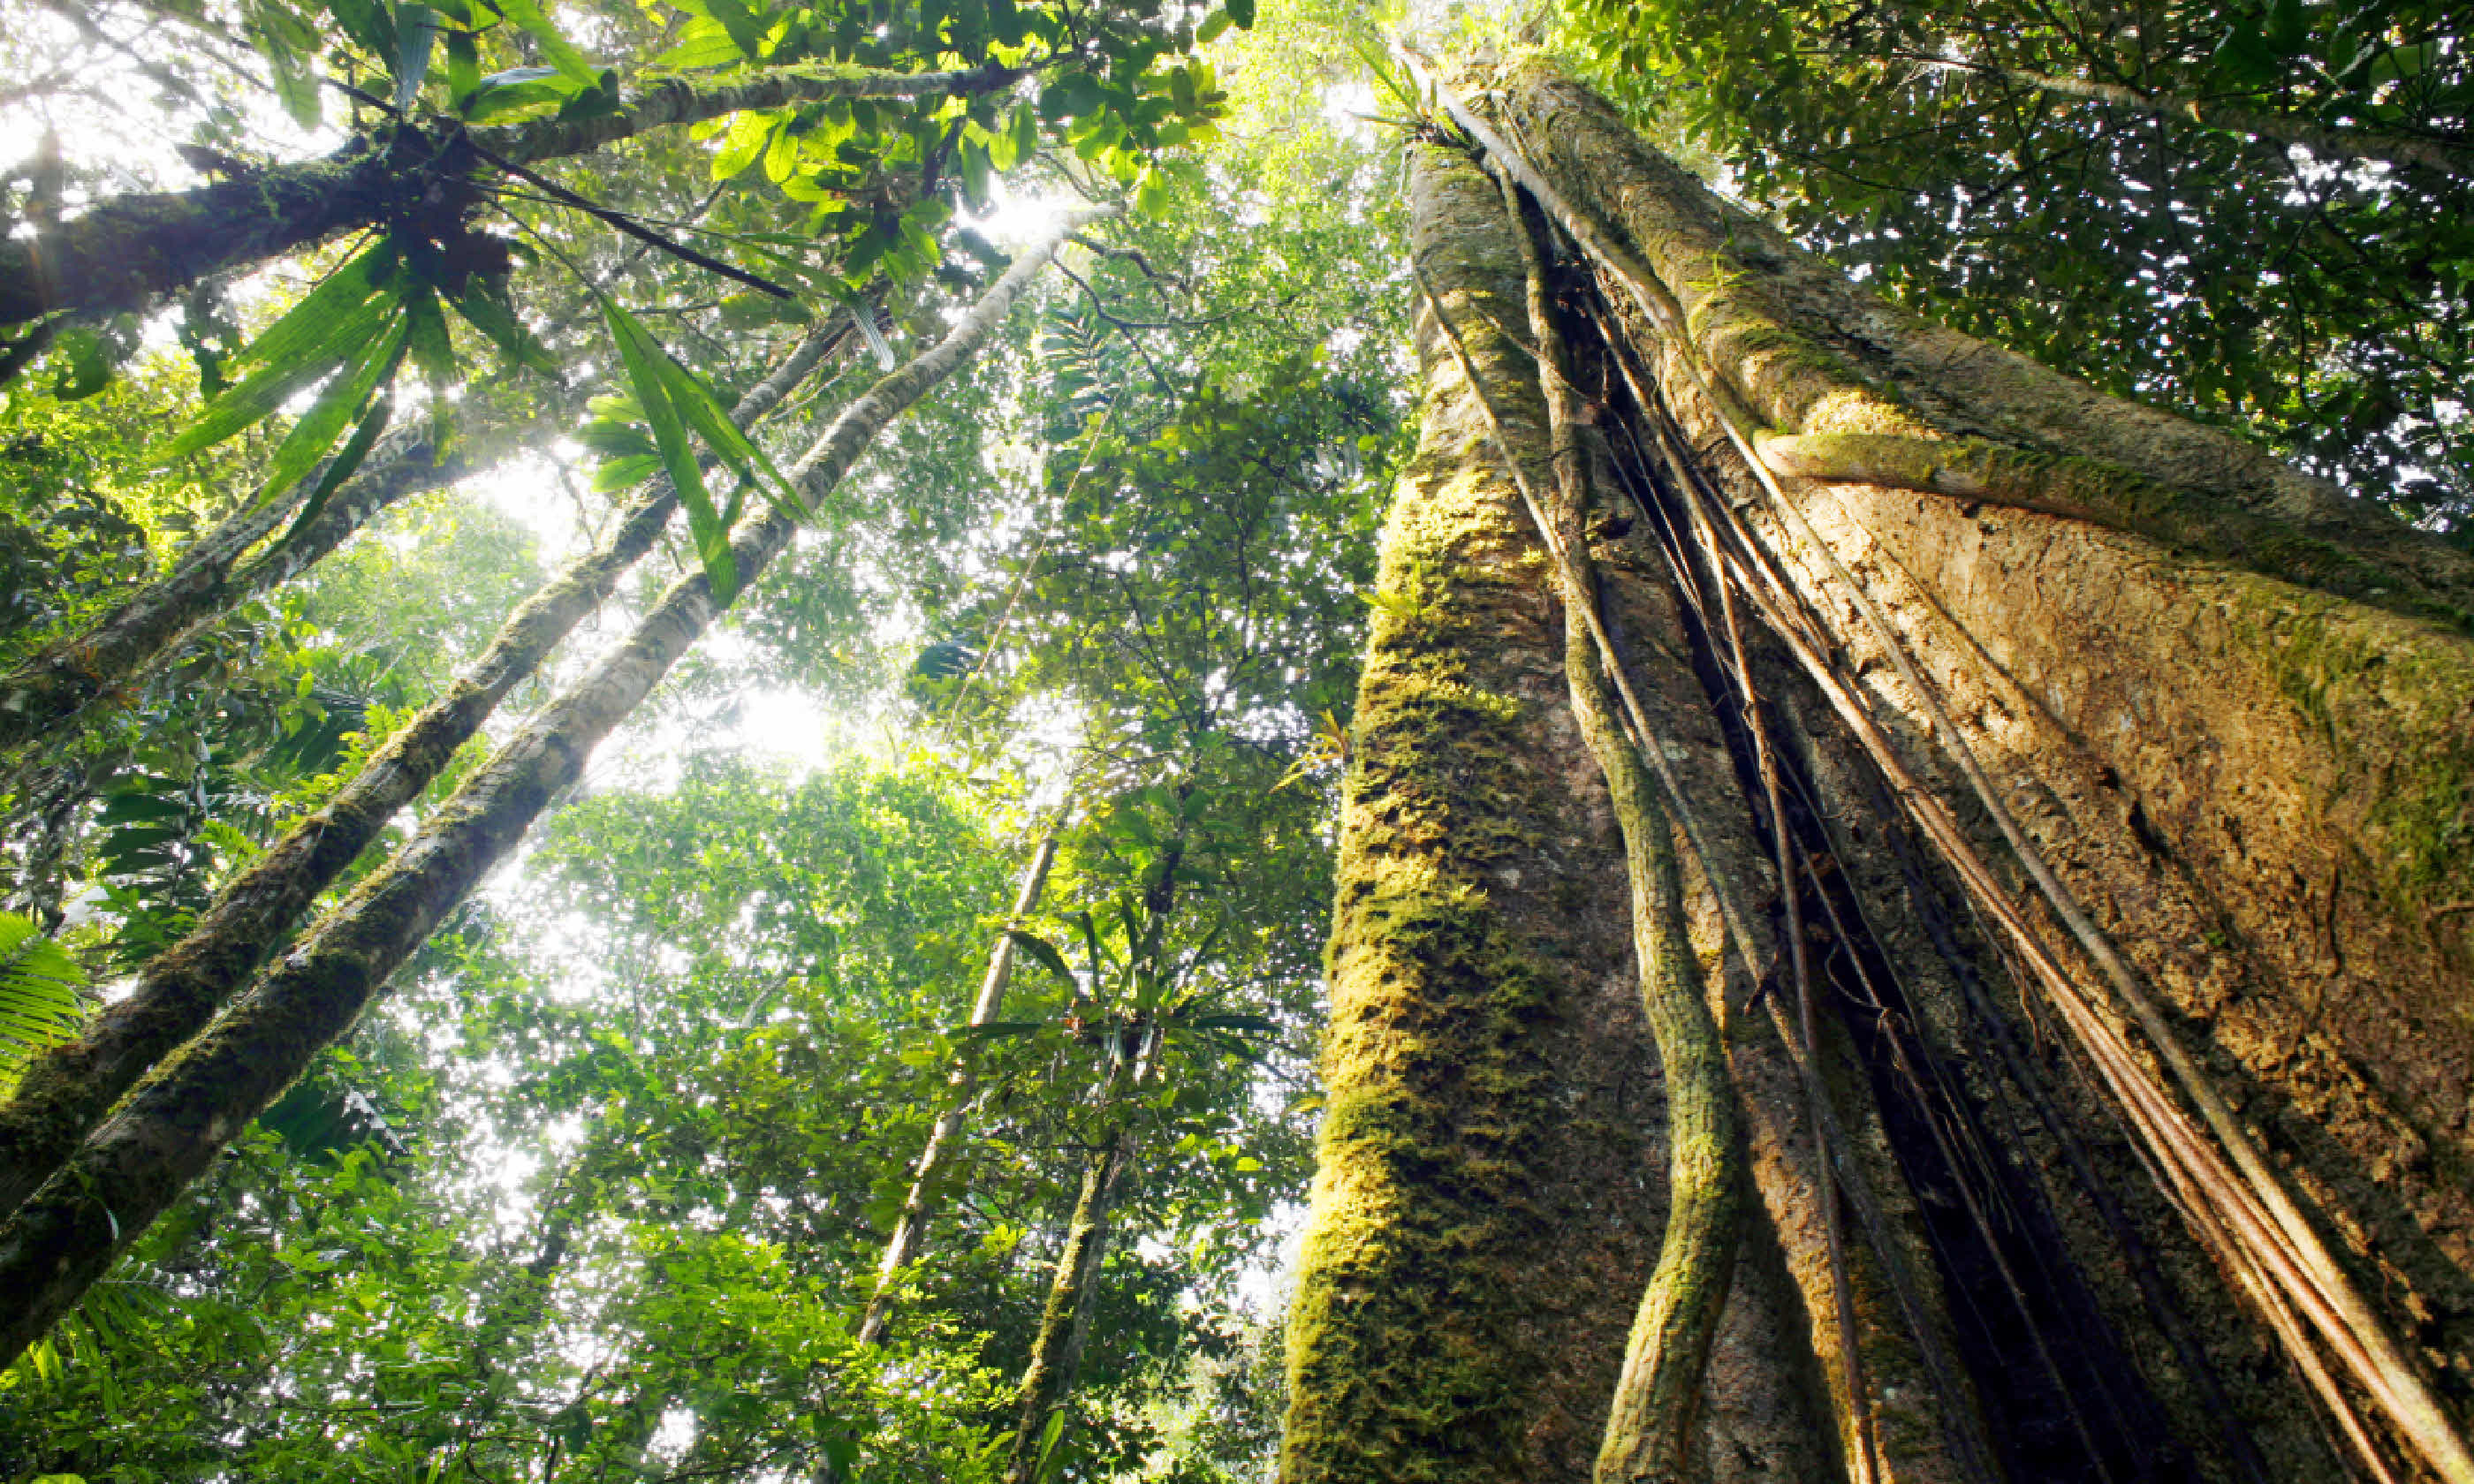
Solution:
{"label": "entire giant buttressed tree trunk with moss and hanging roots", "polygon": [[[2467,1479],[2474,569],[1487,82],[1450,106],[1556,225],[1591,643],[1754,1170],[1690,1474]],[[1489,195],[1418,166],[1291,1482],[1588,1477],[1665,1205]]]}

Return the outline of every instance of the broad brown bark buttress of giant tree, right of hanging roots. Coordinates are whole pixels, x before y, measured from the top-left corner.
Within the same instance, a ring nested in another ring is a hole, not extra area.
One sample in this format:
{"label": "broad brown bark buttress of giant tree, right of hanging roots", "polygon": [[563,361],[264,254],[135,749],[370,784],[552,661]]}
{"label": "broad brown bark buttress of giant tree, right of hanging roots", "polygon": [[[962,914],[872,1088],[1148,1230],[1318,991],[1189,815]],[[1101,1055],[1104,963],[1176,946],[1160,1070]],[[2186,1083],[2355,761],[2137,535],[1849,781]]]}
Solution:
{"label": "broad brown bark buttress of giant tree, right of hanging roots", "polygon": [[[1922,383],[1942,366],[1930,398],[1895,403],[1930,438],[1999,423],[2014,445],[2078,438],[2145,480],[2457,591],[2459,556],[2375,510],[2331,510],[2338,497],[2222,433],[1959,346],[1843,282],[1821,294],[1818,265],[1747,245],[1742,230],[1729,245],[1717,203],[1648,163],[1578,89],[1524,72],[1507,99],[1551,178],[1598,203],[1653,262],[1665,255],[1660,277],[1687,302],[1702,354],[1747,401],[1761,401],[1764,376],[1794,376],[1776,373],[1776,346],[1747,344],[1744,307],[1806,309],[1804,324],[1838,344],[1860,326],[1885,381]],[[1690,406],[1680,366],[1665,371],[1675,406]],[[1811,430],[1860,401],[1818,371],[1806,391],[1801,408],[1769,398],[1771,420]],[[1717,433],[1705,425],[1702,458],[1722,465],[1732,455]],[[2091,519],[1878,482],[1789,492],[1890,616],[2053,868],[2326,1207],[2360,1286],[2387,1296],[2390,1323],[2457,1375],[2462,1397],[2474,1380],[2474,920],[2452,908],[2474,898],[2474,646]],[[1766,539],[1799,561],[1789,532]],[[1799,574],[1808,591],[1828,589],[1808,559]],[[1843,606],[1836,618],[1880,705],[1922,742],[1932,727],[1917,697]]]}

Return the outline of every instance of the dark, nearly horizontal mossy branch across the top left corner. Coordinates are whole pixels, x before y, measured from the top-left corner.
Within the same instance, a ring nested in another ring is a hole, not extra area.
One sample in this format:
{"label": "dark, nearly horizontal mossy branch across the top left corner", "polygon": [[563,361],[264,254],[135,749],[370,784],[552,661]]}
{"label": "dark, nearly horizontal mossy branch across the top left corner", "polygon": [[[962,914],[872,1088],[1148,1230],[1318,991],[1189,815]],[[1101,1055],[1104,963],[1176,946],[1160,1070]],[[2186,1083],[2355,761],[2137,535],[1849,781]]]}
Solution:
{"label": "dark, nearly horizontal mossy branch across the top left corner", "polygon": [[361,134],[324,161],[272,166],[198,190],[124,195],[32,237],[0,240],[0,326],[59,312],[143,312],[200,277],[411,215],[416,205],[453,200],[455,190],[470,193],[470,178],[492,168],[492,156],[529,166],[745,109],[856,96],[975,96],[1017,77],[1007,67],[901,74],[802,64],[730,84],[668,79],[604,119]]}

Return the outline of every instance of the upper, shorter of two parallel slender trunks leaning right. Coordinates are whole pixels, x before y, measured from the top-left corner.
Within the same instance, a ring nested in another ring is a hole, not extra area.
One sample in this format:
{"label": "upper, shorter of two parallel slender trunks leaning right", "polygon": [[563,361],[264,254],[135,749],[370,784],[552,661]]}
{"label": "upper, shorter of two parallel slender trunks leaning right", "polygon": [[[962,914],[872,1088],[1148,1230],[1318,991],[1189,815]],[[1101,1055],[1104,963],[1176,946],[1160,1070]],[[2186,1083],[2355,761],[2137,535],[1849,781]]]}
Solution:
{"label": "upper, shorter of two parallel slender trunks leaning right", "polygon": [[[774,376],[740,401],[732,418],[750,425],[769,413],[844,334],[844,322],[809,334]],[[668,477],[646,485],[606,547],[574,559],[510,613],[490,648],[445,695],[396,732],[317,814],[225,883],[195,927],[151,957],[136,984],[106,1004],[74,1041],[27,1064],[25,1081],[0,1106],[0,1212],[17,1209],[148,1066],[171,1056],[223,1009],[299,913],[379,838],[396,811],[438,779],[497,702],[609,596],[670,524],[675,507],[678,492]]]}

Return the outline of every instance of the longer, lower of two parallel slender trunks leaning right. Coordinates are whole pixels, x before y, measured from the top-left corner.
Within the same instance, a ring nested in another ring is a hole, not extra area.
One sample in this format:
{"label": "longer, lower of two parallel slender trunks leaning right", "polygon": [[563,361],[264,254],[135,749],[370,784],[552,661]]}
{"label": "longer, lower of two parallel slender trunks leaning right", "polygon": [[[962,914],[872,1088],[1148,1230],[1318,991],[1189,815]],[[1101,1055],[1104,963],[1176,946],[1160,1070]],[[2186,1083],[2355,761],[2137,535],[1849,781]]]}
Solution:
{"label": "longer, lower of two parallel slender trunks leaning right", "polygon": [[[1061,228],[1108,215],[1071,213]],[[792,472],[814,510],[886,423],[995,334],[1047,267],[1061,232],[1024,252],[928,354],[861,393]],[[779,510],[732,537],[752,584],[789,547]],[[364,881],[205,1034],[141,1083],[77,1155],[0,1227],[0,1353],[15,1358],[195,1180],[309,1061],[351,1029],[386,977],[428,937],[636,710],[722,611],[705,574],[675,581],[636,633],[549,702],[475,772],[393,861]]]}

